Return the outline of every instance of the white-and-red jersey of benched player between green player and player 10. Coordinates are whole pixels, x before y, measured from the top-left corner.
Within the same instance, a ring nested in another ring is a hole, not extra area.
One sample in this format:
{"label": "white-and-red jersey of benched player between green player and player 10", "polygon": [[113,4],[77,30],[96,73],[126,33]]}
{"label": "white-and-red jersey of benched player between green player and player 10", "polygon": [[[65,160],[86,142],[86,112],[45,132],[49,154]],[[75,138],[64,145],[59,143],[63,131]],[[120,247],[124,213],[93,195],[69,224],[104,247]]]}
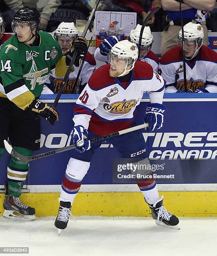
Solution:
{"label": "white-and-red jersey of benched player between green player and player 10", "polygon": [[[65,77],[67,68],[68,67],[65,64],[65,58],[61,59],[59,62],[57,62],[55,69],[51,70],[51,74],[49,77],[47,77],[47,81],[45,84],[50,88],[50,84],[52,83],[52,87],[54,87],[55,92],[58,92],[60,90],[60,84],[63,81],[63,78]],[[92,75],[92,72],[95,68],[96,61],[94,57],[89,52],[87,52],[77,85],[87,84],[88,79]],[[72,89],[74,87],[75,79],[77,77],[79,69],[80,67],[75,67],[75,65],[72,67],[72,71],[69,74],[69,78],[67,80],[67,83],[65,84],[63,93],[76,93],[77,87],[74,88],[73,92]]]}

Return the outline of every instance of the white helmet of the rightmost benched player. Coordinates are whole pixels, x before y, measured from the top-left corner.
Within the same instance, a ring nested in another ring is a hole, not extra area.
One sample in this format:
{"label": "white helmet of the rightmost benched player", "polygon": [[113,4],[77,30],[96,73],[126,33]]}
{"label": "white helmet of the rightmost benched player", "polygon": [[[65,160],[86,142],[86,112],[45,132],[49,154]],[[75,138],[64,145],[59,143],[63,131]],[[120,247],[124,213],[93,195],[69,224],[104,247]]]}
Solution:
{"label": "white helmet of the rightmost benched player", "polygon": [[[200,24],[192,23],[192,22],[187,23],[183,28],[184,28],[185,41],[189,41],[189,42],[194,41],[196,44],[195,54],[192,56],[192,58],[194,58],[203,44],[203,38],[204,38],[203,28]],[[182,44],[182,30],[180,30],[178,35],[178,44]]]}

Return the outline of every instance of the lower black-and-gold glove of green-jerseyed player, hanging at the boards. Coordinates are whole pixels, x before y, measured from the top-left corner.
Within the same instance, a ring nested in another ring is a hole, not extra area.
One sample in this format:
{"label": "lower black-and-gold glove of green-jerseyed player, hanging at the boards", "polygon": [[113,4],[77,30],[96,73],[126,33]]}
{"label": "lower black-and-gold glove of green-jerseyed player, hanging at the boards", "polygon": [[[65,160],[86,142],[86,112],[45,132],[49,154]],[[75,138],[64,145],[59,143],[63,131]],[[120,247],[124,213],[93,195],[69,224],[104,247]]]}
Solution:
{"label": "lower black-and-gold glove of green-jerseyed player, hanging at the boards", "polygon": [[38,116],[47,120],[51,125],[54,125],[54,122],[59,120],[57,110],[53,106],[45,104],[40,100],[33,100],[29,108],[33,112],[36,112]]}

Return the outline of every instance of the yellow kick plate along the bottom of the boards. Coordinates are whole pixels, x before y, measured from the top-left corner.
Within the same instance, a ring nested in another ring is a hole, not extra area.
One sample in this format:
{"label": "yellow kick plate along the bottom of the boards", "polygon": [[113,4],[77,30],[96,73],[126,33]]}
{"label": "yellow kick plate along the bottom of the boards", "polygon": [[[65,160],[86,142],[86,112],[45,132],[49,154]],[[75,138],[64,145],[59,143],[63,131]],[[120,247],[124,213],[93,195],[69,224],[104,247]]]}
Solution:
{"label": "yellow kick plate along the bottom of the boards", "polygon": [[[217,217],[217,191],[160,192],[166,209],[178,217]],[[23,193],[20,200],[36,209],[36,216],[57,215],[58,193]],[[0,194],[0,215],[4,194]],[[75,216],[151,217],[140,192],[78,193],[72,206]]]}

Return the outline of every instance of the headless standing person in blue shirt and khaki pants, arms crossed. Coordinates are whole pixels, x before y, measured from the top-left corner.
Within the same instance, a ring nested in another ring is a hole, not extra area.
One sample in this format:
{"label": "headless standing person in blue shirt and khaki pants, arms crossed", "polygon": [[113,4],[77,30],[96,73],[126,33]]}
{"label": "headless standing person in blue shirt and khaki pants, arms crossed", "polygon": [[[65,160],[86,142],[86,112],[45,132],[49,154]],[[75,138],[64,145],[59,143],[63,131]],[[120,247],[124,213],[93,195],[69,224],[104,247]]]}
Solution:
{"label": "headless standing person in blue shirt and khaki pants, arms crossed", "polygon": [[[181,29],[180,0],[161,0],[162,8],[169,16],[167,28],[162,32],[161,55],[177,45],[177,36]],[[200,23],[204,30],[204,45],[208,45],[206,18],[212,11],[215,0],[182,0],[182,16],[184,26],[189,23]]]}

